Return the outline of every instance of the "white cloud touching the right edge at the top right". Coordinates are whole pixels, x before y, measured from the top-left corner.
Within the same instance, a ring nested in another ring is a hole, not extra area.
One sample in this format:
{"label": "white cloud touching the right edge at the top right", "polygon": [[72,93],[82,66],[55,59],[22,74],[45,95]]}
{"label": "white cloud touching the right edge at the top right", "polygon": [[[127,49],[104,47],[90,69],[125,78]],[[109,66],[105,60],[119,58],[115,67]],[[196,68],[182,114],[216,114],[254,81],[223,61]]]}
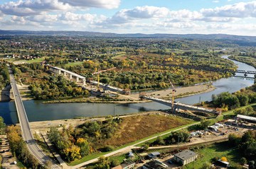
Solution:
{"label": "white cloud touching the right edge at the top right", "polygon": [[240,2],[238,4],[221,6],[217,8],[203,8],[200,12],[206,17],[256,17],[256,1]]}

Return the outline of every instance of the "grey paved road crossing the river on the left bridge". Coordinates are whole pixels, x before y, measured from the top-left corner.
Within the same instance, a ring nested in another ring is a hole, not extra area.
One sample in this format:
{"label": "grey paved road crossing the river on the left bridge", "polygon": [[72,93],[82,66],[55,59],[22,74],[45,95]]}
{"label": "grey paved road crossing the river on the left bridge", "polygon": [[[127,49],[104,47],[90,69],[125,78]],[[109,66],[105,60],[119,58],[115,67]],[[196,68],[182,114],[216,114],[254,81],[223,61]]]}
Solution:
{"label": "grey paved road crossing the river on the left bridge", "polygon": [[10,80],[11,80],[11,88],[13,89],[14,93],[14,100],[16,105],[16,110],[18,114],[18,120],[21,125],[21,132],[23,139],[26,141],[28,146],[28,150],[31,152],[33,156],[38,159],[38,162],[42,165],[46,164],[46,161],[51,161],[53,165],[51,168],[60,168],[59,165],[55,161],[52,161],[50,157],[46,156],[42,149],[36,144],[35,139],[33,139],[33,134],[31,133],[31,129],[28,124],[28,117],[26,116],[26,110],[23,106],[21,95],[18,92],[18,87],[16,85],[16,81],[14,75],[10,73]]}

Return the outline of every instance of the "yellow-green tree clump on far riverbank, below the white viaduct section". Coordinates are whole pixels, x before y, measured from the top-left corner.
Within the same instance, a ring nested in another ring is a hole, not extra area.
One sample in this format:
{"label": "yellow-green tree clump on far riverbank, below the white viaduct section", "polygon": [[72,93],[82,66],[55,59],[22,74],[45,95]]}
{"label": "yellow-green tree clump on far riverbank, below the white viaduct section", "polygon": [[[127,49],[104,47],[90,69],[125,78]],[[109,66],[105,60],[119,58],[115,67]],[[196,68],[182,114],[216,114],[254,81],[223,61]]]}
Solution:
{"label": "yellow-green tree clump on far riverbank, below the white viaduct section", "polygon": [[41,83],[33,82],[29,87],[35,99],[57,99],[65,97],[87,96],[88,91],[77,87],[73,81],[67,81],[63,76],[43,76]]}

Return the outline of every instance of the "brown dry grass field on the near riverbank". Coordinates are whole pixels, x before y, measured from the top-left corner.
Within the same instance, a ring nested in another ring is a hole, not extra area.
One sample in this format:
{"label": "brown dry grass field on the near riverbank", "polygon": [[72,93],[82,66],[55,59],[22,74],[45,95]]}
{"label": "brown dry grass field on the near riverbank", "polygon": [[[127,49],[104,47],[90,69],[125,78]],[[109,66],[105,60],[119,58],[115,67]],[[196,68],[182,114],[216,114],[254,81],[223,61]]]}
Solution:
{"label": "brown dry grass field on the near riverbank", "polygon": [[138,115],[125,117],[111,139],[105,145],[121,146],[146,136],[188,124],[191,120],[165,115]]}

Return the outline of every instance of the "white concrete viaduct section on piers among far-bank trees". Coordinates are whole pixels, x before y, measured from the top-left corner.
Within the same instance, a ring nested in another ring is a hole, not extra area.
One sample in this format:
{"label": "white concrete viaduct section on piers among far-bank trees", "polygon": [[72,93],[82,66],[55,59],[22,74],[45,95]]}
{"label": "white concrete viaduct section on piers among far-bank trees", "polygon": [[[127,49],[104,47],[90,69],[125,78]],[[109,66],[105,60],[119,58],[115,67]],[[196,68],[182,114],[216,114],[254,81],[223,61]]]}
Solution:
{"label": "white concrete viaduct section on piers among far-bank trees", "polygon": [[86,84],[86,78],[84,76],[75,74],[72,71],[68,71],[56,66],[48,65],[48,67],[49,67],[49,71],[52,71],[54,74],[57,74],[57,75],[63,74],[63,76],[68,77],[70,80],[75,79],[77,83],[82,83],[82,86],[85,86]]}

